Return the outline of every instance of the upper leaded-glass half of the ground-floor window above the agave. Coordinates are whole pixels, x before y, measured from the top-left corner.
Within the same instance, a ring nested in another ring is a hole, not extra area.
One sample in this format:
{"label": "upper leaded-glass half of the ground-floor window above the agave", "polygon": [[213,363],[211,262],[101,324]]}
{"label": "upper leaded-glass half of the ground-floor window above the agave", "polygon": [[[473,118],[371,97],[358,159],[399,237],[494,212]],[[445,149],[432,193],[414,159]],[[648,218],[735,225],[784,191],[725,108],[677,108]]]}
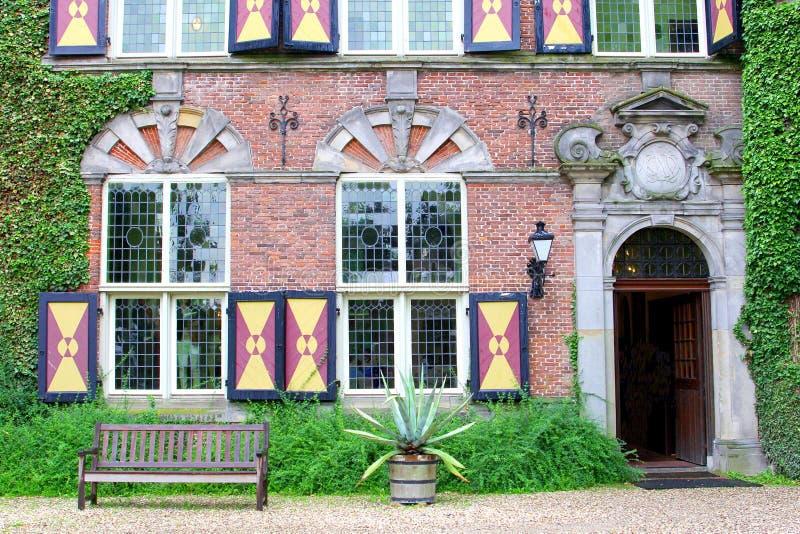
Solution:
{"label": "upper leaded-glass half of the ground-floor window above the agave", "polygon": [[343,180],[341,283],[464,283],[461,189],[460,180]]}

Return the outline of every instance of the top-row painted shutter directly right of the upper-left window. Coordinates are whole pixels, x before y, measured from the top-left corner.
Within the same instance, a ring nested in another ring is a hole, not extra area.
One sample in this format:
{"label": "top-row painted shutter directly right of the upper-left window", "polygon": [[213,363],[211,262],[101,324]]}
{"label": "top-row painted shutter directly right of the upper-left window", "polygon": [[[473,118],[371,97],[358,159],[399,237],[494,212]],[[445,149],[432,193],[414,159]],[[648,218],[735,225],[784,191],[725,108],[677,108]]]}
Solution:
{"label": "top-row painted shutter directly right of the upper-left window", "polygon": [[278,46],[280,0],[230,0],[228,51]]}

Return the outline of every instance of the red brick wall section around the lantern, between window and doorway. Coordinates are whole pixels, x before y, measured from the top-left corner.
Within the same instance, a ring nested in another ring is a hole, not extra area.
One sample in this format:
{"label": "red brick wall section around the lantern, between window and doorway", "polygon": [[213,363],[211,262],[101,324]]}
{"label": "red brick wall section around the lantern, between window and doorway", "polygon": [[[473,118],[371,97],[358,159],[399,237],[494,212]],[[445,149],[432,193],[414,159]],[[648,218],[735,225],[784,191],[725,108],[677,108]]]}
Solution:
{"label": "red brick wall section around the lantern, between window and doorway", "polygon": [[561,182],[470,183],[467,187],[470,291],[524,291],[536,222],[555,234],[545,294],[528,299],[531,392],[564,396],[572,370],[564,336],[572,327],[574,280],[571,187]]}

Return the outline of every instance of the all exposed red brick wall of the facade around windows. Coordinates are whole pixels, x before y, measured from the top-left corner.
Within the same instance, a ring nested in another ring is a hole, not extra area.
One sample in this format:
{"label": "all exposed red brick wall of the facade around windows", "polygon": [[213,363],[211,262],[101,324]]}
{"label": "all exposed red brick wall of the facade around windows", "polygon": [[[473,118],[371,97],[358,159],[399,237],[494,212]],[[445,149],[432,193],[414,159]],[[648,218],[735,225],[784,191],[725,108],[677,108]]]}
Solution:
{"label": "all exposed red brick wall of the facade around windows", "polygon": [[[523,2],[523,19],[533,16]],[[524,24],[532,28],[532,24]],[[527,30],[526,30],[527,31]],[[532,35],[523,35],[532,47]],[[251,144],[257,170],[280,168],[281,138],[269,129],[279,95],[300,120],[287,138],[288,170],[310,170],[318,141],[344,113],[384,104],[384,71],[188,72],[185,105],[224,113]],[[736,72],[686,70],[672,74],[672,87],[709,105],[708,120],[692,138],[713,150],[713,130],[741,123],[741,85]],[[566,125],[595,122],[605,129],[604,148],[627,139],[613,125],[609,108],[641,92],[639,72],[620,70],[419,70],[418,105],[447,106],[486,143],[497,170],[530,165],[530,137],[517,126],[527,112],[526,95],[537,95],[549,125],[536,131],[538,166],[555,170],[553,140]],[[328,183],[231,184],[231,289],[234,291],[335,288],[336,187]],[[91,281],[96,289],[100,258],[101,187],[89,186]],[[543,299],[530,299],[530,374],[537,395],[569,394],[572,371],[563,337],[572,331],[574,282],[571,189],[554,179],[522,183],[470,182],[468,231],[470,291],[527,291],[531,255],[527,236],[543,220],[556,235]]]}

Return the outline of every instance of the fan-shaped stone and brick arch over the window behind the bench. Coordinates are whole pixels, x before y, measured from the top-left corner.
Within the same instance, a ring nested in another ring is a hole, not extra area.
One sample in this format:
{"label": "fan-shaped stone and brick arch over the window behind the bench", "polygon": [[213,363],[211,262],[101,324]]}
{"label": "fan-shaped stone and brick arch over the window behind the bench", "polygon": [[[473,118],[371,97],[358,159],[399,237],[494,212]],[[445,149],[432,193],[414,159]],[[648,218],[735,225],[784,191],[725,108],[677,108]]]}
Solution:
{"label": "fan-shaped stone and brick arch over the window behind the bench", "polygon": [[81,160],[84,176],[252,169],[250,144],[225,115],[163,102],[117,116],[92,139]]}

